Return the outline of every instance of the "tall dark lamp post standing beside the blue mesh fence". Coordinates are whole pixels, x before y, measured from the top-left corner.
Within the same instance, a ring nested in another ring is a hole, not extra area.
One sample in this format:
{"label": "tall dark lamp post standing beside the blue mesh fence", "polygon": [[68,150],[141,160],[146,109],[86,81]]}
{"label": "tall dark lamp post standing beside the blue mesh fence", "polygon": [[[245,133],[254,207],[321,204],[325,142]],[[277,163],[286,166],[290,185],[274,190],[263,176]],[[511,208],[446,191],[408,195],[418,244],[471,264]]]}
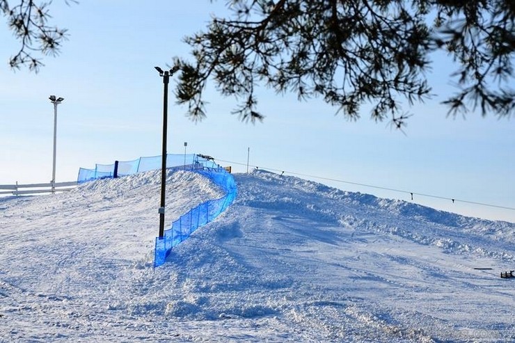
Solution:
{"label": "tall dark lamp post standing beside the blue mesh fence", "polygon": [[161,154],[161,204],[159,207],[159,238],[164,236],[164,198],[166,193],[166,136],[168,128],[168,83],[170,77],[179,70],[176,65],[171,70],[164,72],[160,67],[154,67],[159,76],[163,78],[164,91],[163,91],[163,151]]}

